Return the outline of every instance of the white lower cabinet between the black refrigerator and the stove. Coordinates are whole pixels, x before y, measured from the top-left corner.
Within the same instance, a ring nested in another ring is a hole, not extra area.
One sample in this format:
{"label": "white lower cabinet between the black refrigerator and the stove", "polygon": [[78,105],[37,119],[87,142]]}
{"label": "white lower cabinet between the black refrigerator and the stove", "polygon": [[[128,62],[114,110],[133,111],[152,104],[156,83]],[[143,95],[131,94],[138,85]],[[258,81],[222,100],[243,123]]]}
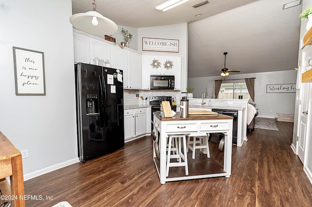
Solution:
{"label": "white lower cabinet between the black refrigerator and the stove", "polygon": [[135,108],[124,110],[124,135],[125,141],[129,139],[135,139],[140,135],[145,135],[146,121],[147,121],[147,109]]}

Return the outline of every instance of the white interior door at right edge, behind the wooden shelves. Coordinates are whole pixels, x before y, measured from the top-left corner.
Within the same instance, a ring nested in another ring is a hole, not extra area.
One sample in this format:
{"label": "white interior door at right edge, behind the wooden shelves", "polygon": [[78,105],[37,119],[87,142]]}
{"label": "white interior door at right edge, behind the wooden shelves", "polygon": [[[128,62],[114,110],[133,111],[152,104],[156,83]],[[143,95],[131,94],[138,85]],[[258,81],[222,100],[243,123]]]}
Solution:
{"label": "white interior door at right edge, behind the wooden shelves", "polygon": [[[309,49],[305,52],[303,52],[303,69],[302,72],[305,72],[306,69],[310,69],[309,62],[311,63],[312,59],[312,48],[309,47]],[[312,67],[312,66],[311,66]],[[297,142],[297,154],[301,160],[301,162],[304,164],[304,158],[305,158],[305,146],[306,146],[306,140],[307,140],[307,122],[308,122],[308,107],[309,107],[309,84],[307,83],[301,83],[300,87],[300,99],[299,99],[299,116],[300,121],[299,128],[298,128],[298,142]]]}

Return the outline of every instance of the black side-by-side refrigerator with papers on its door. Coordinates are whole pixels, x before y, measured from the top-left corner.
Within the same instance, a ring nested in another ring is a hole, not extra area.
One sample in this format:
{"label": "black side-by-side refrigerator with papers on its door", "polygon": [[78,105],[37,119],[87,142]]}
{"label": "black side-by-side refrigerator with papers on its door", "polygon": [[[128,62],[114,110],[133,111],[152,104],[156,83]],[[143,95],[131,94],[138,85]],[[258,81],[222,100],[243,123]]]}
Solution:
{"label": "black side-by-side refrigerator with papers on its door", "polygon": [[75,64],[78,157],[124,148],[122,70]]}

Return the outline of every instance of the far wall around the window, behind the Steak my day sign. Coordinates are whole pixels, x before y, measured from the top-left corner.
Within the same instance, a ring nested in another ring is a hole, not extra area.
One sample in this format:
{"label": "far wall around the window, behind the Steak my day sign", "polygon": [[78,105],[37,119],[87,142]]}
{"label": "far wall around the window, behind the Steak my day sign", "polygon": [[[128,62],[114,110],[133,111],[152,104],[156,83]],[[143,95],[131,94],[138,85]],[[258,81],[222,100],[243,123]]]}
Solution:
{"label": "far wall around the window, behind the Steak my day sign", "polygon": [[[254,93],[256,107],[259,107],[259,117],[274,118],[276,113],[294,114],[295,93],[266,93],[267,84],[295,84],[297,72],[285,70],[276,72],[261,72],[249,74],[230,75],[226,80],[244,79],[255,77]],[[214,91],[215,80],[221,80],[220,76],[189,78],[188,86],[194,87],[194,98],[201,98],[203,91]],[[244,82],[244,80],[242,80]],[[214,92],[213,92],[214,93]],[[209,98],[209,97],[208,97]],[[271,113],[272,110],[272,113]]]}

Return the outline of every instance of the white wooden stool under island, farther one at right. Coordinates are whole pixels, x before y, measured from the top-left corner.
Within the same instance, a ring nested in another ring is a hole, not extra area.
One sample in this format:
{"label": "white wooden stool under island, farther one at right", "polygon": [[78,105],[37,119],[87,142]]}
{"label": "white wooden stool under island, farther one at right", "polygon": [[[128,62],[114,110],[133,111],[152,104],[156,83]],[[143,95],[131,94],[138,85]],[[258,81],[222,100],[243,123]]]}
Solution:
{"label": "white wooden stool under island, farther one at right", "polygon": [[[190,140],[191,137],[193,137],[193,140]],[[200,151],[202,151],[202,149],[207,149],[207,157],[210,158],[208,137],[209,135],[207,133],[191,133],[187,135],[187,152],[189,149],[193,151],[193,159],[195,159],[196,149],[200,149]]]}

